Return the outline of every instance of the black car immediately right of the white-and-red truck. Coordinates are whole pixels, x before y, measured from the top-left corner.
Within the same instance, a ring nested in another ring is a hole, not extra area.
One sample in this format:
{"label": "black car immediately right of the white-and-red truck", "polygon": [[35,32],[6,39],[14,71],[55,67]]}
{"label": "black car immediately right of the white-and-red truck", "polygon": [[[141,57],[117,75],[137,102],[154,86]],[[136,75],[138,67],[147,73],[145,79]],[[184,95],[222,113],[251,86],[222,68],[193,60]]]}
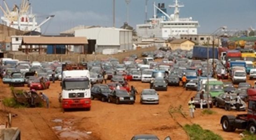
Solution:
{"label": "black car immediately right of the white-and-red truck", "polygon": [[97,98],[102,102],[107,101],[107,96],[111,92],[109,87],[106,84],[94,84],[91,89],[91,98]]}

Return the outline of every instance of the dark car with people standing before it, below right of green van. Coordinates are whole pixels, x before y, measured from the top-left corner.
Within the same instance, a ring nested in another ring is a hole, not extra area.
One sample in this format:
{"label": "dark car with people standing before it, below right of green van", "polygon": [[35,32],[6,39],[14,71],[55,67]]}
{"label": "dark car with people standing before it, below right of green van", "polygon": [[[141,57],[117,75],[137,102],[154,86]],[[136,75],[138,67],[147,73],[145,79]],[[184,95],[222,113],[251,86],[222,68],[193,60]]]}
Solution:
{"label": "dark car with people standing before it, below right of green van", "polygon": [[[225,93],[220,94],[219,96],[215,97],[215,105],[216,107],[221,107],[225,108],[225,98],[226,98]],[[231,109],[235,110],[235,99],[236,99],[236,94],[230,94],[231,95]],[[242,100],[241,101],[242,105],[240,105],[240,110],[244,111],[246,109],[246,103]]]}

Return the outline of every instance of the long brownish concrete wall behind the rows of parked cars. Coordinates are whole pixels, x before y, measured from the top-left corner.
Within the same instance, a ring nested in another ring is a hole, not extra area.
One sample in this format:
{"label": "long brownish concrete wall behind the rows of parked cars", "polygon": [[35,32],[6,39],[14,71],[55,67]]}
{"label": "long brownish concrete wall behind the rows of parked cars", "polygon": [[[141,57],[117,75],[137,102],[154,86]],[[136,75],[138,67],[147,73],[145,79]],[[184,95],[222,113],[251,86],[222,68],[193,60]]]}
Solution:
{"label": "long brownish concrete wall behind the rows of parked cars", "polygon": [[149,47],[149,48],[138,48],[136,50],[130,50],[127,52],[123,52],[123,53],[118,53],[118,54],[114,54],[114,55],[102,55],[102,54],[97,54],[97,55],[83,55],[83,54],[71,54],[71,55],[47,55],[47,54],[23,54],[21,52],[9,52],[7,54],[8,58],[13,58],[13,59],[18,59],[18,60],[24,60],[24,59],[28,59],[30,61],[39,61],[39,62],[43,62],[43,61],[53,61],[53,60],[60,60],[60,61],[65,61],[65,60],[69,60],[75,63],[79,63],[82,62],[83,59],[85,61],[92,61],[92,60],[101,60],[103,58],[109,58],[109,57],[114,57],[119,59],[119,61],[121,62],[123,60],[123,58],[130,56],[132,54],[136,54],[139,57],[141,57],[142,52],[145,51],[155,51],[156,48],[155,47]]}

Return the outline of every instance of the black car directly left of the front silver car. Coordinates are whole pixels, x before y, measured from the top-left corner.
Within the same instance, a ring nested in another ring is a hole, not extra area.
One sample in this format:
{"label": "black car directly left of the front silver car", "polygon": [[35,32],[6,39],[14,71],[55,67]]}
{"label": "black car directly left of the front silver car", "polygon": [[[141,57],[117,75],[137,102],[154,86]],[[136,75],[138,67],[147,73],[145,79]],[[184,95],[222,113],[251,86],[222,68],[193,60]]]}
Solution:
{"label": "black car directly left of the front silver car", "polygon": [[126,90],[113,90],[108,94],[107,102],[115,104],[134,104],[135,100]]}

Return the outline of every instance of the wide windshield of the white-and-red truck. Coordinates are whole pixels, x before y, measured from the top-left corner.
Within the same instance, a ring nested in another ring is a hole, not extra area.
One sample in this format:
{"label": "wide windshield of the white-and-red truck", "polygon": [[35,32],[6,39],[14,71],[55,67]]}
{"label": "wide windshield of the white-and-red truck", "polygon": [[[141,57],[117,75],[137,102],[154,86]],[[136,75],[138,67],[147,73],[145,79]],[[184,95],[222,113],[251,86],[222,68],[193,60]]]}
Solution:
{"label": "wide windshield of the white-and-red truck", "polygon": [[74,89],[89,89],[90,82],[86,81],[65,81],[64,89],[65,90],[74,90]]}

